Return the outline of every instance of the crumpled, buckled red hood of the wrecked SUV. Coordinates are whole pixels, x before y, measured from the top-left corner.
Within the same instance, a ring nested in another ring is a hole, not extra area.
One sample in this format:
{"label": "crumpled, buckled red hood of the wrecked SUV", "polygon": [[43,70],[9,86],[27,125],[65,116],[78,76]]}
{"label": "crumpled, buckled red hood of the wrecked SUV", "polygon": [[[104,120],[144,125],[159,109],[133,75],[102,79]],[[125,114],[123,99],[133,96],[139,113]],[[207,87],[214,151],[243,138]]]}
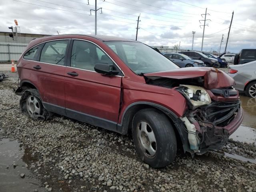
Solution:
{"label": "crumpled, buckled red hood of the wrecked SUV", "polygon": [[[147,78],[172,78],[172,79],[188,79],[196,77],[204,77],[204,88],[217,89],[233,86],[235,81],[225,72],[217,68],[210,67],[186,67],[170,71],[154,72],[144,74]],[[189,80],[188,80],[189,83]]]}

